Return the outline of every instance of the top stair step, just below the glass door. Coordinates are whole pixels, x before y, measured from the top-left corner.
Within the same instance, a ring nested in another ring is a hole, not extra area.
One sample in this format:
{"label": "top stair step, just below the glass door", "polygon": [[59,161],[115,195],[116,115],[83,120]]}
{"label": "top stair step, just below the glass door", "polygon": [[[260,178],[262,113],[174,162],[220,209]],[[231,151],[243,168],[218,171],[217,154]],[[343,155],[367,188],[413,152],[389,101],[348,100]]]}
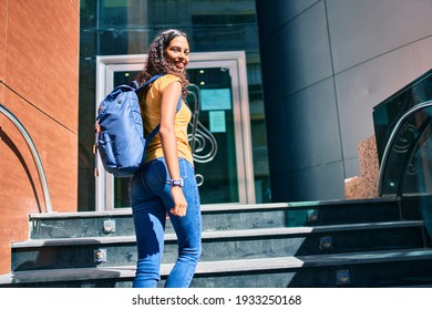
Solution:
{"label": "top stair step, just below the glass door", "polygon": [[[329,200],[258,205],[204,205],[204,230],[323,226],[421,219],[418,207],[395,198]],[[110,237],[134,234],[132,210],[35,214],[31,239]],[[114,228],[114,229],[113,229]],[[110,230],[112,229],[112,230]],[[166,231],[173,231],[167,221]]]}

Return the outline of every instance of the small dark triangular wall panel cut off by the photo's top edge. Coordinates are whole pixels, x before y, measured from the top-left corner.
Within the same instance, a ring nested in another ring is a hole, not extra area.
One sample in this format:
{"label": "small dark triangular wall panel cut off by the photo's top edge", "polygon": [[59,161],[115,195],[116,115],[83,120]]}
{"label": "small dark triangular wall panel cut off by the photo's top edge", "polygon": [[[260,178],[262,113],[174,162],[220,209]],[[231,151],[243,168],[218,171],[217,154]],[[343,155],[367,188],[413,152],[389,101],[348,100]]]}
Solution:
{"label": "small dark triangular wall panel cut off by the photo's top edge", "polygon": [[[266,20],[261,23],[264,27],[259,29],[261,37],[271,37],[279,28],[317,2],[319,0],[256,0],[257,11],[260,11],[258,18],[266,17]],[[272,18],[269,19],[267,17]]]}

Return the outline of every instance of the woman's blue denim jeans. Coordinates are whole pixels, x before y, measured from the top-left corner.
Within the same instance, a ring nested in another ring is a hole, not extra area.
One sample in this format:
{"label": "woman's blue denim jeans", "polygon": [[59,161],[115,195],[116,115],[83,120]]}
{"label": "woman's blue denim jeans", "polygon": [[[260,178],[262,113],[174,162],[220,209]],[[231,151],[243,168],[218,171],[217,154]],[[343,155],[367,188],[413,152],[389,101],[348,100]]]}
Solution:
{"label": "woman's blue denim jeans", "polygon": [[163,157],[156,158],[135,173],[130,182],[130,199],[135,224],[138,259],[134,288],[155,288],[161,280],[166,214],[177,235],[178,257],[165,282],[167,288],[187,288],[198,264],[202,244],[202,217],[194,167],[179,158],[187,202],[186,216],[169,213],[173,207],[169,175]]}

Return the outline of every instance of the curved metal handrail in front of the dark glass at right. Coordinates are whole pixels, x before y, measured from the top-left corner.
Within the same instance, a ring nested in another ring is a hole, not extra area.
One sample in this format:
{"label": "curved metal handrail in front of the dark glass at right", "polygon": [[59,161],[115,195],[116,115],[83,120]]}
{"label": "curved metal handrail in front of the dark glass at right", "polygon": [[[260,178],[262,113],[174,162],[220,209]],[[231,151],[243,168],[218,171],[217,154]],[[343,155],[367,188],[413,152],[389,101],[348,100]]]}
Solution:
{"label": "curved metal handrail in front of the dark glass at right", "polygon": [[[411,107],[409,111],[407,111],[398,121],[398,123],[394,125],[391,134],[390,134],[390,137],[389,137],[389,141],[388,143],[385,144],[385,148],[384,148],[384,152],[382,154],[382,161],[381,161],[381,166],[380,166],[380,170],[379,170],[379,175],[378,175],[378,183],[377,183],[377,189],[378,189],[378,196],[382,196],[382,187],[383,187],[383,182],[384,182],[384,173],[385,173],[385,168],[387,168],[387,159],[390,155],[390,151],[393,146],[393,142],[394,142],[394,138],[397,137],[398,133],[400,132],[400,130],[402,128],[402,125],[404,123],[404,121],[410,117],[412,114],[421,111],[421,110],[424,110],[426,107],[430,107],[432,106],[432,100],[429,100],[429,101],[424,101],[422,103],[419,103],[416,104],[415,106]],[[400,194],[400,193],[399,193]]]}

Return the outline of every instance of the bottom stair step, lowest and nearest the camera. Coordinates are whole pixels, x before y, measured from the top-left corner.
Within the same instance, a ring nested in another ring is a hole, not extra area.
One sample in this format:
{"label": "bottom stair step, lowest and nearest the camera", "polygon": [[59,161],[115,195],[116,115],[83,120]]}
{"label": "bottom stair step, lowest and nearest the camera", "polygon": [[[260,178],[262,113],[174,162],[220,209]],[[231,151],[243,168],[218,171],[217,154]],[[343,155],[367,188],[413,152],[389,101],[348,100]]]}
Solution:
{"label": "bottom stair step, lowest and nearest the camera", "polygon": [[[172,266],[162,265],[163,278]],[[192,287],[372,287],[371,279],[376,287],[430,286],[431,267],[432,249],[424,248],[202,261]],[[0,287],[130,287],[134,273],[134,266],[14,271],[0,276]]]}

